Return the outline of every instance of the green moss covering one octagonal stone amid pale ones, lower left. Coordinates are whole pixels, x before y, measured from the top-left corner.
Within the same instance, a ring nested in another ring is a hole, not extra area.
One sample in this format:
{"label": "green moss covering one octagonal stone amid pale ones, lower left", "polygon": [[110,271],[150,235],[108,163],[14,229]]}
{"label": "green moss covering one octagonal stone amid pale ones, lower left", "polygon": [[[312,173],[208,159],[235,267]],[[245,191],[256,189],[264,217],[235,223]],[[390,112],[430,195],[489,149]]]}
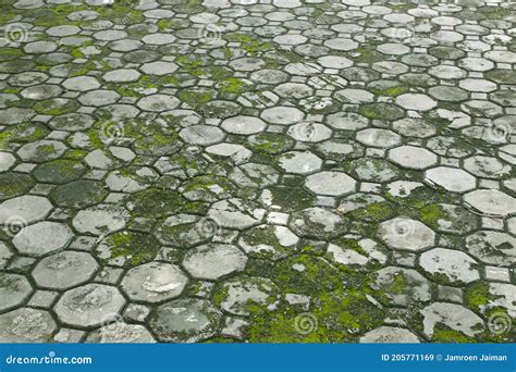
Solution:
{"label": "green moss covering one octagonal stone amid pale ones, lower left", "polygon": [[156,259],[160,244],[150,234],[120,232],[110,235],[102,245],[109,247],[111,256],[106,260],[123,258],[125,266],[137,266]]}

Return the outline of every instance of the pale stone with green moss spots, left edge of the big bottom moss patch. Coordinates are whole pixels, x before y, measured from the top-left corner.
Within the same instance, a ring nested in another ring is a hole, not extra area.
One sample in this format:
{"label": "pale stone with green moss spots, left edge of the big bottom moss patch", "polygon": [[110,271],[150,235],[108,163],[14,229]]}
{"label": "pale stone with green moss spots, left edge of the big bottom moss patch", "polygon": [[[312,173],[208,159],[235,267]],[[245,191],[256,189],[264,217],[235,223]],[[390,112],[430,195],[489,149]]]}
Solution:
{"label": "pale stone with green moss spots, left edge of the big bottom moss patch", "polygon": [[221,308],[235,315],[248,315],[248,306],[273,308],[279,300],[279,289],[272,281],[263,277],[235,278],[224,283]]}

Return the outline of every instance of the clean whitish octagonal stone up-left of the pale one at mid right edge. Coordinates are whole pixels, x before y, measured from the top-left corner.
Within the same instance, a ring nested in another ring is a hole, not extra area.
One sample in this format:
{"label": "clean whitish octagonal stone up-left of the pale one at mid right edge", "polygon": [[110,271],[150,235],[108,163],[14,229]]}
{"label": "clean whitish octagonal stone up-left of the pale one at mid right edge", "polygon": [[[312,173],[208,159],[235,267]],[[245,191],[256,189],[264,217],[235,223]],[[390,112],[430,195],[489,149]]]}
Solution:
{"label": "clean whitish octagonal stone up-left of the pale one at mid right edge", "polygon": [[449,166],[438,166],[426,171],[425,181],[453,193],[468,191],[477,184],[477,179],[469,173]]}

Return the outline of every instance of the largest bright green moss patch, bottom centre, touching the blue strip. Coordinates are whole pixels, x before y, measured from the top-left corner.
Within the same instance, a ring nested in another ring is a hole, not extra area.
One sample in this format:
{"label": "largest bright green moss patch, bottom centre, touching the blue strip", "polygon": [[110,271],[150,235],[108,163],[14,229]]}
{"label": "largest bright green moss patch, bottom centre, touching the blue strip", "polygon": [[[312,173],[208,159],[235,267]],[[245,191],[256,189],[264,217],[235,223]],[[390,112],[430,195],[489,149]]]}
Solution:
{"label": "largest bright green moss patch, bottom centre, touching the blue strip", "polygon": [[349,272],[328,261],[300,255],[280,261],[271,275],[283,295],[310,297],[310,309],[282,303],[275,310],[249,306],[247,337],[260,343],[329,343],[356,340],[383,322],[384,310],[370,301],[373,292],[361,282],[346,286]]}

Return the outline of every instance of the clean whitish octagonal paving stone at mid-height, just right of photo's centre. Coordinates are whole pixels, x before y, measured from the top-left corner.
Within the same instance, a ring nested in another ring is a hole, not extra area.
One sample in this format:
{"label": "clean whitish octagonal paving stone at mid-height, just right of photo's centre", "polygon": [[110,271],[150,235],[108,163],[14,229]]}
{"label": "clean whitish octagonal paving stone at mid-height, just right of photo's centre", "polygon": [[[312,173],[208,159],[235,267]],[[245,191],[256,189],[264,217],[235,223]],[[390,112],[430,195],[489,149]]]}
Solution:
{"label": "clean whitish octagonal paving stone at mid-height, just right of photo's centre", "polygon": [[305,186],[318,195],[342,196],[356,189],[356,181],[341,172],[319,172],[306,177]]}

